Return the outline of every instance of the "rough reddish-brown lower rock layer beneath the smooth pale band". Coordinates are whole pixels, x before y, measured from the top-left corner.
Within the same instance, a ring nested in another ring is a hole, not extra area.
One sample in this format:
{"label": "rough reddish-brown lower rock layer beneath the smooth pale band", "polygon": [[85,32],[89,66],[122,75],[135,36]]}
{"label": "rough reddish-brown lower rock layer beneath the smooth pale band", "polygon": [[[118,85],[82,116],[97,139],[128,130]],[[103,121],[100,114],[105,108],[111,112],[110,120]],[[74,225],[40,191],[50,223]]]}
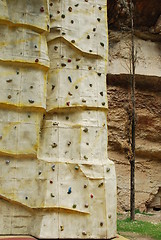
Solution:
{"label": "rough reddish-brown lower rock layer beneath the smooth pale band", "polygon": [[[116,164],[119,210],[129,210],[130,164],[125,153],[130,108],[128,80],[127,75],[108,76],[108,151]],[[136,208],[140,210],[154,208],[154,201],[157,208],[161,207],[160,195],[157,196],[161,187],[161,95],[155,88],[157,80],[136,76]]]}

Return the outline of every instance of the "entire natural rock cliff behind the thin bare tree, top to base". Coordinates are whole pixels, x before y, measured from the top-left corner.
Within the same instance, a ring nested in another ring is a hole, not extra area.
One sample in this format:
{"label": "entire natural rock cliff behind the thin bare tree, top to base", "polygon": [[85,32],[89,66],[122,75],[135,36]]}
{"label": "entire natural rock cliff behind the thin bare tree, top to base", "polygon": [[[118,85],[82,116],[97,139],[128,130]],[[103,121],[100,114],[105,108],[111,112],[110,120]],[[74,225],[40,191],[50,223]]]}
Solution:
{"label": "entire natural rock cliff behind the thin bare tree, top to base", "polygon": [[[118,209],[130,204],[130,58],[129,0],[108,1],[109,157],[116,164]],[[136,208],[161,209],[161,5],[134,0],[136,66]]]}

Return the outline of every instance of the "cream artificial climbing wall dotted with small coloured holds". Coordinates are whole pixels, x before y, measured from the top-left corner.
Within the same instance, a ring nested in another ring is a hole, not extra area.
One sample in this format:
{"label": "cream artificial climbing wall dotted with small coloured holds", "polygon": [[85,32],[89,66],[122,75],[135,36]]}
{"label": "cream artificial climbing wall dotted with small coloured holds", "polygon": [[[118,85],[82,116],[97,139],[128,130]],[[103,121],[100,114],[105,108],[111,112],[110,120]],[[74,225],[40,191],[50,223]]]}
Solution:
{"label": "cream artificial climbing wall dotted with small coloured holds", "polygon": [[110,239],[100,0],[0,1],[0,235]]}

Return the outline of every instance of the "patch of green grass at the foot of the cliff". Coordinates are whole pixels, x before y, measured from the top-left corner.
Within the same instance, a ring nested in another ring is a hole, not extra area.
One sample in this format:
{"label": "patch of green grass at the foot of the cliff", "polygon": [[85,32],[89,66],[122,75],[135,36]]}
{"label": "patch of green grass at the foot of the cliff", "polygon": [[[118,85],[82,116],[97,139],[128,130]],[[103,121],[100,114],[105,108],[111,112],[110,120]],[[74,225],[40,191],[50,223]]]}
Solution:
{"label": "patch of green grass at the foot of the cliff", "polygon": [[143,221],[131,221],[130,218],[117,221],[118,232],[135,232],[142,236],[148,236],[161,240],[161,223],[152,224]]}

